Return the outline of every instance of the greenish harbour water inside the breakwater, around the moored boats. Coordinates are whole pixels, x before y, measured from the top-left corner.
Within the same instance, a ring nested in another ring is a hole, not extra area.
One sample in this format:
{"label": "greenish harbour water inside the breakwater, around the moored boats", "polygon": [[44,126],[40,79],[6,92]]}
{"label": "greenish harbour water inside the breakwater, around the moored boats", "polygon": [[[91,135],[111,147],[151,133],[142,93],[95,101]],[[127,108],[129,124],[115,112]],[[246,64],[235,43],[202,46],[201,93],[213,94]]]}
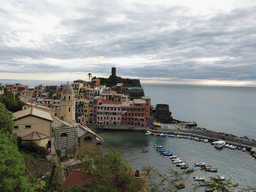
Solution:
{"label": "greenish harbour water inside the breakwater, around the moored boats", "polygon": [[[249,152],[241,150],[215,149],[210,143],[197,142],[188,139],[171,137],[146,136],[143,132],[127,131],[101,131],[99,135],[104,138],[104,153],[109,147],[121,148],[124,159],[133,169],[142,170],[143,167],[153,166],[162,174],[170,175],[169,170],[178,171],[183,174],[184,170],[171,163],[167,156],[160,155],[154,145],[162,145],[165,149],[182,158],[189,164],[189,168],[195,163],[205,162],[206,165],[217,168],[217,173],[210,173],[194,167],[195,172],[184,174],[186,188],[181,191],[192,191],[199,184],[194,181],[194,176],[210,177],[225,176],[231,179],[233,184],[238,183],[240,187],[256,187],[256,159]],[[148,153],[141,153],[142,148],[147,148]],[[204,191],[204,187],[198,187],[196,191]]]}

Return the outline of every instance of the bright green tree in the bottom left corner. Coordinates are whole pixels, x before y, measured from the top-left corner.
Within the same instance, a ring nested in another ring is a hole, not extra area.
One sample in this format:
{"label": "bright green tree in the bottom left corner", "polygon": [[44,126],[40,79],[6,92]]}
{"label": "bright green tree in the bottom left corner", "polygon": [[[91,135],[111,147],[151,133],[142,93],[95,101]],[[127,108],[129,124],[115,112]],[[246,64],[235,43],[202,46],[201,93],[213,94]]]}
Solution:
{"label": "bright green tree in the bottom left corner", "polygon": [[24,176],[25,167],[17,146],[3,133],[0,133],[0,162],[0,191],[35,191]]}

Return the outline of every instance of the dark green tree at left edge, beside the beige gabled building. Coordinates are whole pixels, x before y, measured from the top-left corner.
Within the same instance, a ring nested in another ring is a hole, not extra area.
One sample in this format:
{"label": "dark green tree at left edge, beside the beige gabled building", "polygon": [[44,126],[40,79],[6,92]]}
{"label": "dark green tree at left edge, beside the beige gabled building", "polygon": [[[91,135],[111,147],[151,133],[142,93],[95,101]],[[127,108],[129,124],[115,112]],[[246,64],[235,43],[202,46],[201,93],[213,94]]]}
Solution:
{"label": "dark green tree at left edge, beside the beige gabled building", "polygon": [[13,127],[12,113],[6,109],[3,103],[0,103],[0,133],[12,134]]}

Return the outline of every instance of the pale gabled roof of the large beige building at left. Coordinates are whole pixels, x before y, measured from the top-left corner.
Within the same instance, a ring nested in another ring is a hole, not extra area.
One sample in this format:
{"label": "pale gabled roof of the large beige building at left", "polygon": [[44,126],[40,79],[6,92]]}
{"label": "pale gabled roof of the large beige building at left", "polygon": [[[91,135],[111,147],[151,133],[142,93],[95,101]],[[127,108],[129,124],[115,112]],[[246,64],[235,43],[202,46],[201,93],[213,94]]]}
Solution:
{"label": "pale gabled roof of the large beige building at left", "polygon": [[14,116],[14,118],[13,118],[14,121],[16,121],[18,119],[25,118],[27,116],[34,116],[34,117],[38,117],[38,118],[41,118],[41,119],[44,119],[47,121],[53,121],[50,113],[41,111],[41,110],[33,108],[33,107],[25,109],[25,110],[17,111],[15,113],[13,113],[13,116]]}

